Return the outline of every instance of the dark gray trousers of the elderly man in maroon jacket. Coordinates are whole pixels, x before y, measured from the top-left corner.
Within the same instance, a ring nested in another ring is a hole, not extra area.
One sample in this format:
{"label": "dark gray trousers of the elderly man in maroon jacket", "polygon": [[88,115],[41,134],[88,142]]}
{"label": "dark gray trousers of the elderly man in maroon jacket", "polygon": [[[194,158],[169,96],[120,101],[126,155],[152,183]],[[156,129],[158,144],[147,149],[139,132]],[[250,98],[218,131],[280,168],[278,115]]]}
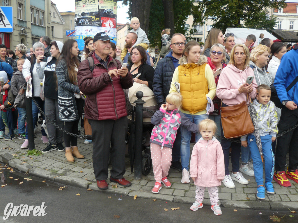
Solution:
{"label": "dark gray trousers of the elderly man in maroon jacket", "polygon": [[111,151],[111,178],[122,179],[125,173],[125,134],[127,117],[118,120],[88,120],[92,129],[93,169],[97,180],[108,178],[108,159]]}

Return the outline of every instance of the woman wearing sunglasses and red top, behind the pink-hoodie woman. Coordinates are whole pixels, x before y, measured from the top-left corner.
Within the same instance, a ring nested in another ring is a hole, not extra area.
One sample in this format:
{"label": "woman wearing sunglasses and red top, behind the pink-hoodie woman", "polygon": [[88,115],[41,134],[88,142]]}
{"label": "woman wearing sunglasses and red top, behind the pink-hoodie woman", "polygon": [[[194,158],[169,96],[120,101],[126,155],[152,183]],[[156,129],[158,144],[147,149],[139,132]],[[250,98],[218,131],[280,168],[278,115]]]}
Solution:
{"label": "woman wearing sunglasses and red top, behind the pink-hoodie woman", "polygon": [[[226,63],[223,63],[224,59],[226,58],[226,50],[223,45],[219,43],[215,43],[210,49],[210,57],[207,57],[208,64],[212,69],[213,75],[215,75],[216,71],[219,69],[224,69],[226,67]],[[219,71],[217,71],[219,72]],[[217,86],[218,78],[220,73],[214,77],[215,84]],[[212,100],[214,105],[214,111],[209,114],[209,119],[213,120],[216,123],[217,129],[220,129],[221,126],[221,114],[220,114],[220,106],[221,106],[221,99],[215,95]]]}

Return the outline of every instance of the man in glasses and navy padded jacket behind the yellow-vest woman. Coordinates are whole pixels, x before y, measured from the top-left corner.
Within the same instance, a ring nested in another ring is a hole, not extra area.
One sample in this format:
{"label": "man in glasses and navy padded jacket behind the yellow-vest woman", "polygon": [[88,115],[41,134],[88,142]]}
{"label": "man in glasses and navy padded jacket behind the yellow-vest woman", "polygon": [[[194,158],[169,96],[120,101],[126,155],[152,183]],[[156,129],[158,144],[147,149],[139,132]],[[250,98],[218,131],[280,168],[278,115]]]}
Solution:
{"label": "man in glasses and navy padded jacket behind the yellow-vest woman", "polygon": [[[173,78],[173,73],[178,67],[179,59],[182,57],[182,52],[185,46],[185,37],[176,33],[171,39],[170,48],[172,51],[168,53],[163,59],[161,59],[157,65],[154,72],[153,78],[153,93],[156,99],[156,102],[159,104],[159,107],[166,101],[166,97],[169,94],[171,82]],[[182,166],[180,163],[180,128],[177,131],[176,140],[173,145],[172,150],[172,165],[174,169],[178,169],[182,172]]]}

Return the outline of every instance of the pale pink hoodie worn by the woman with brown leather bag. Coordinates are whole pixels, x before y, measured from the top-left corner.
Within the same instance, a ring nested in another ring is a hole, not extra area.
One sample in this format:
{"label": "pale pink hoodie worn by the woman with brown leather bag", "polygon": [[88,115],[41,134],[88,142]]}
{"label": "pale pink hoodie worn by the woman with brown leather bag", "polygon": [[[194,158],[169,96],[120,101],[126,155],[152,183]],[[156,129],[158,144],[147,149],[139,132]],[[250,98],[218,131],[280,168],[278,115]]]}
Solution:
{"label": "pale pink hoodie worn by the woman with brown leather bag", "polygon": [[[232,106],[246,101],[246,93],[239,93],[239,87],[245,83],[248,76],[254,76],[254,71],[250,67],[239,70],[232,64],[227,65],[219,76],[216,95],[223,100],[226,105]],[[252,81],[253,91],[249,93],[251,98],[257,96],[257,82]]]}

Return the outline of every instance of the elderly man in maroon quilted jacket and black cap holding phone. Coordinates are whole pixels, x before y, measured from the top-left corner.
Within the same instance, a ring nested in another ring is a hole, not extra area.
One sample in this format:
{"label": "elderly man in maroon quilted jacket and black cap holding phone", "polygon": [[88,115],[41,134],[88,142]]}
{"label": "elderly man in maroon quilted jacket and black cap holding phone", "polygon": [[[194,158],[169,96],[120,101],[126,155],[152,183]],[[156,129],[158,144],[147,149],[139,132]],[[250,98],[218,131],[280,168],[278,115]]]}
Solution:
{"label": "elderly man in maroon quilted jacket and black cap holding phone", "polygon": [[111,182],[122,186],[131,183],[125,173],[125,134],[127,113],[123,89],[133,85],[131,73],[121,68],[118,60],[109,56],[111,38],[105,32],[93,38],[94,51],[88,56],[94,61],[91,72],[89,60],[81,62],[77,73],[80,90],[86,94],[85,117],[92,128],[93,169],[99,189],[108,189],[108,158],[111,151]]}

